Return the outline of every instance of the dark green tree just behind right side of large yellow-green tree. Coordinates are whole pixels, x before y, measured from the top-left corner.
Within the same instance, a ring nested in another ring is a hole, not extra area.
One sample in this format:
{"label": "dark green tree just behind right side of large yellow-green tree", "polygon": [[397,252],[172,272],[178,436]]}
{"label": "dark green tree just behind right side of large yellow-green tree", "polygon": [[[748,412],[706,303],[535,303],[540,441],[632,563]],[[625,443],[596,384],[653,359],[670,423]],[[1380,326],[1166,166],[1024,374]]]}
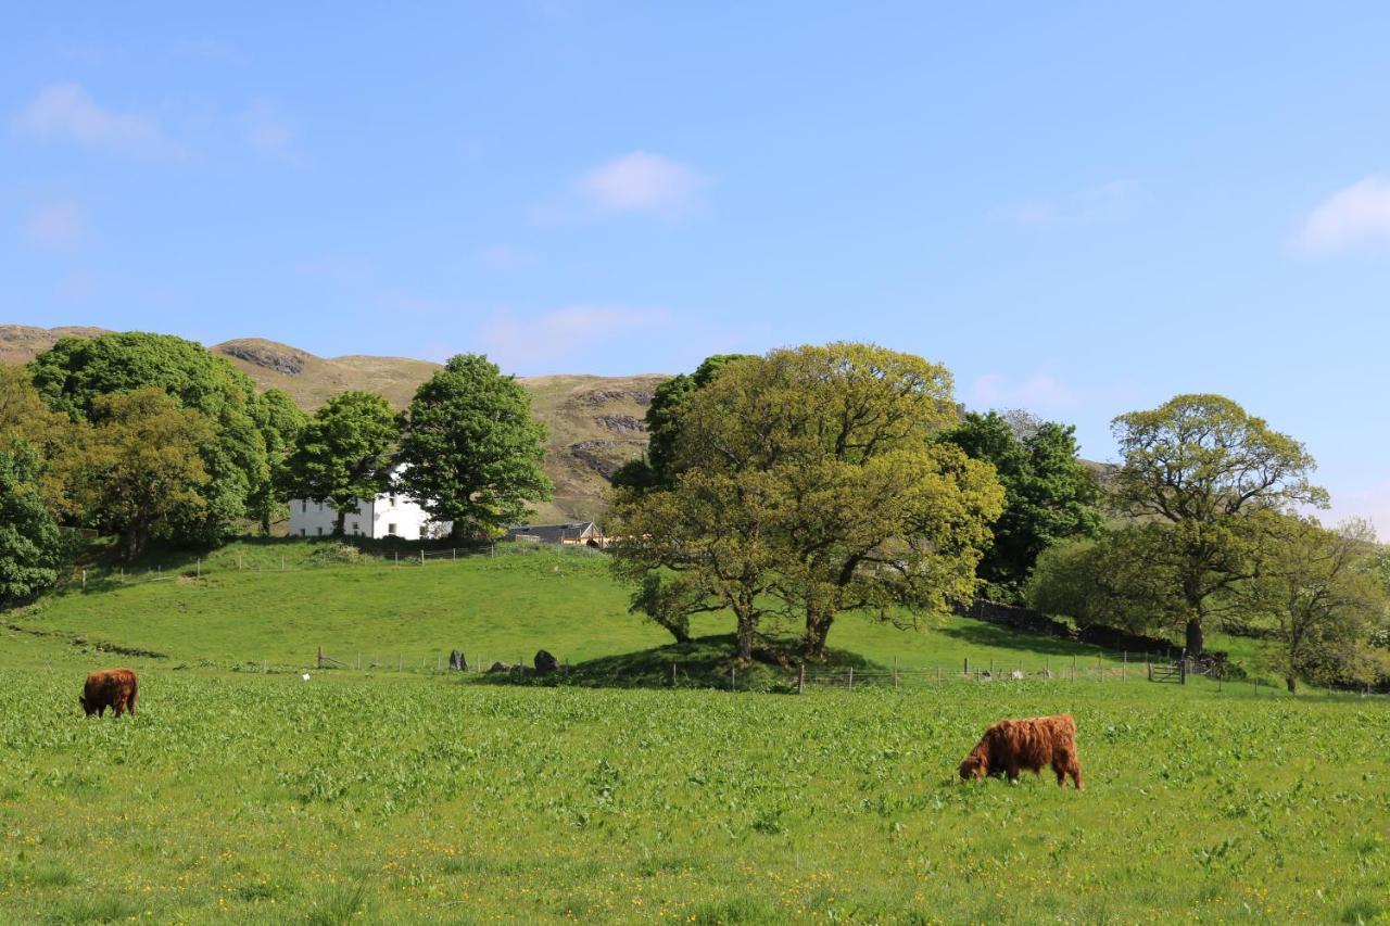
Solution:
{"label": "dark green tree just behind right side of large yellow-green tree", "polygon": [[991,598],[1020,601],[1038,553],[1099,534],[1099,484],[1077,456],[1074,427],[1017,413],[970,413],[942,439],[994,466],[1004,485],[1004,513],[977,570]]}

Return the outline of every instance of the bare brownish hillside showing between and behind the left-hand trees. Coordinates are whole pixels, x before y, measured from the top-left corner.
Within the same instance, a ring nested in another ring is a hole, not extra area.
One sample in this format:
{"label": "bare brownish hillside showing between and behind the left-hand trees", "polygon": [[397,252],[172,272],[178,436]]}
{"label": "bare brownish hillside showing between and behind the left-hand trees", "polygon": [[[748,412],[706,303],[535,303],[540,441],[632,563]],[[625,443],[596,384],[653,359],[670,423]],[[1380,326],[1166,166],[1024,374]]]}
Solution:
{"label": "bare brownish hillside showing between and behind the left-hand trees", "polygon": [[[65,335],[93,336],[101,328],[0,325],[0,363],[26,363]],[[211,348],[263,389],[284,389],[306,410],[346,389],[370,389],[404,407],[439,364],[409,357],[318,357],[263,338],[238,338]],[[646,448],[642,416],[664,375],[523,377],[537,419],[550,428],[546,473],[555,501],[537,506],[538,521],[592,519],[603,510],[607,477]]]}

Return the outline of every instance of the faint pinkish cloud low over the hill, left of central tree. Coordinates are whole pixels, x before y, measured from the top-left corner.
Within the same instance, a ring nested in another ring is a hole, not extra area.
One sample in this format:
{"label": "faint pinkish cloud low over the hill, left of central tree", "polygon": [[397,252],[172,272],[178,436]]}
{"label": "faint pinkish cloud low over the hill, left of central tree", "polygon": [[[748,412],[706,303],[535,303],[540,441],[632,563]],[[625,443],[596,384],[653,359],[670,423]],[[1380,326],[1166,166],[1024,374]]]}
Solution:
{"label": "faint pinkish cloud low over the hill, left of central tree", "polygon": [[488,356],[503,368],[537,371],[603,341],[639,335],[667,321],[663,309],[569,306],[535,318],[500,313],[482,330]]}

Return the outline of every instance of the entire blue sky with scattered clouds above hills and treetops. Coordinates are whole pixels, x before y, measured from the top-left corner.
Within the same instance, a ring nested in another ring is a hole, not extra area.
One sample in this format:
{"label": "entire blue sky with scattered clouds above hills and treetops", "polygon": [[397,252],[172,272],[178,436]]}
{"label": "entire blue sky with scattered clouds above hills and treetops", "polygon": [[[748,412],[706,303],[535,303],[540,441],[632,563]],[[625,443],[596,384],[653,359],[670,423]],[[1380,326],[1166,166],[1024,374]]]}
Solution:
{"label": "entire blue sky with scattered clouds above hills and treetops", "polygon": [[200,6],[6,17],[0,321],[1213,391],[1390,534],[1384,4]]}

